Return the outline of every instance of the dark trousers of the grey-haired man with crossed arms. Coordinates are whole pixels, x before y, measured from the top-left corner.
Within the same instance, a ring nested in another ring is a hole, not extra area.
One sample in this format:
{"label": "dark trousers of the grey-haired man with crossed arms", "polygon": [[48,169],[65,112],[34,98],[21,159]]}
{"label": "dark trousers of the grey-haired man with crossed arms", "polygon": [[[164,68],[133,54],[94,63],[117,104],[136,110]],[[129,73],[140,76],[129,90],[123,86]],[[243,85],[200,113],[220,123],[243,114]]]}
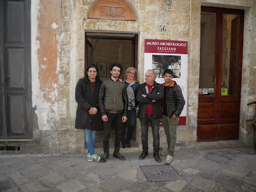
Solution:
{"label": "dark trousers of the grey-haired man with crossed arms", "polygon": [[159,124],[160,118],[153,119],[153,115],[144,115],[140,118],[141,122],[141,142],[143,144],[143,151],[148,151],[148,124],[151,124],[152,135],[153,135],[153,152],[159,152]]}

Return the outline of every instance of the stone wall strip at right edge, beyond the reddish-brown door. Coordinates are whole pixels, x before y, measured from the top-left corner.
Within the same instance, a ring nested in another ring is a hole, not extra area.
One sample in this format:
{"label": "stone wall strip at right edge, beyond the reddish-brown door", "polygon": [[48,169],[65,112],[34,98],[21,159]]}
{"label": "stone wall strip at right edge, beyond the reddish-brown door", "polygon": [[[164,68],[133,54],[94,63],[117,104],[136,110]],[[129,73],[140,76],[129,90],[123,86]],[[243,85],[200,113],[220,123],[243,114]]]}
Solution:
{"label": "stone wall strip at right edge, beyond the reddish-brown door", "polygon": [[253,128],[247,119],[252,119],[256,113],[255,104],[247,106],[248,102],[256,101],[256,1],[244,13],[244,48],[242,57],[242,90],[239,139],[247,146],[253,145]]}

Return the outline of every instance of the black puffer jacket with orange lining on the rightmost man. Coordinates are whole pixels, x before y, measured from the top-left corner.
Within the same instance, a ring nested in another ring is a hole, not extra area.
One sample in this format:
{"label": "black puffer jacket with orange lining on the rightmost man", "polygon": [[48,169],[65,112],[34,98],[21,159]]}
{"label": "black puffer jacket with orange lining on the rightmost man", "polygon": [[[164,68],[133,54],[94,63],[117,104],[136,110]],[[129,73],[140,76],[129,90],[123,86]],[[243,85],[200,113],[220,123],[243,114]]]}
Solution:
{"label": "black puffer jacket with orange lining on the rightmost man", "polygon": [[[162,90],[164,90],[164,83],[162,84]],[[185,104],[181,88],[175,81],[172,81],[166,94],[168,117],[172,117],[173,114],[179,117]]]}

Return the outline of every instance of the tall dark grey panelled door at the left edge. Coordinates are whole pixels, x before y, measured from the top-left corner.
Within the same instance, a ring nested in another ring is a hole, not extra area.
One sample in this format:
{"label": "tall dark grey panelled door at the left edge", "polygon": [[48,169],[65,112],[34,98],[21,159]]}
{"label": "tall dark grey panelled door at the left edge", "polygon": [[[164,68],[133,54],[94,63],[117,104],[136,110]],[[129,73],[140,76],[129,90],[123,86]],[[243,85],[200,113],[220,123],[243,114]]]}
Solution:
{"label": "tall dark grey panelled door at the left edge", "polygon": [[0,139],[32,139],[30,1],[1,1],[0,39]]}

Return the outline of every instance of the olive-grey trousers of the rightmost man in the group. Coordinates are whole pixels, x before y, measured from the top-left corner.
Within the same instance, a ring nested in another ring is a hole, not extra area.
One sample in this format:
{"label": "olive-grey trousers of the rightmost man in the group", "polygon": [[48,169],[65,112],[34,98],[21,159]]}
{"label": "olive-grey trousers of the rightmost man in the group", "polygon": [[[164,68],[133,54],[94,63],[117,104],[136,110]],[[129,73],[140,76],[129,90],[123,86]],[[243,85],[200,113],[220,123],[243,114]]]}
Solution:
{"label": "olive-grey trousers of the rightmost man in the group", "polygon": [[168,119],[167,116],[162,116],[162,126],[164,126],[164,132],[166,134],[166,140],[168,144],[168,155],[174,155],[175,144],[177,140],[177,125],[179,117]]}

